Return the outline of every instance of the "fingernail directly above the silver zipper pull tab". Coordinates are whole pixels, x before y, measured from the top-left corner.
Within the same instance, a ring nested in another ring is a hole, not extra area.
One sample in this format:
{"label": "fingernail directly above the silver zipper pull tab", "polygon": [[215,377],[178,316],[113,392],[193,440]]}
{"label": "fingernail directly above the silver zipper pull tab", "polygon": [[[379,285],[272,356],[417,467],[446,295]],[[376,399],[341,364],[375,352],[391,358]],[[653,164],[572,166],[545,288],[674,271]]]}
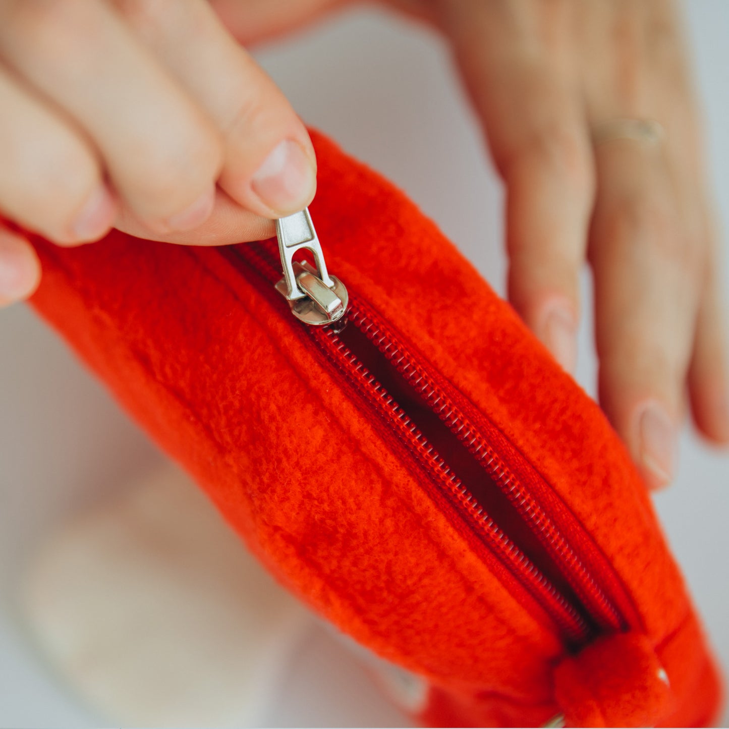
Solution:
{"label": "fingernail directly above the silver zipper pull tab", "polygon": [[274,213],[290,215],[306,206],[315,184],[311,160],[299,144],[286,139],[265,158],[251,187]]}

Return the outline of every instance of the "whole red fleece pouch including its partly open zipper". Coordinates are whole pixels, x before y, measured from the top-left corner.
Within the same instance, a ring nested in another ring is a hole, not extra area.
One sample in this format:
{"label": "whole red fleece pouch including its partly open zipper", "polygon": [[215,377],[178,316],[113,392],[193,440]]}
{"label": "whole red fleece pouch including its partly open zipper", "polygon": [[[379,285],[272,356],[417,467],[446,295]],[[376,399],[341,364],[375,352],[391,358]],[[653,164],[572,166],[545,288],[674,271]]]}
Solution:
{"label": "whole red fleece pouch including its partly open zipper", "polygon": [[275,241],[39,240],[34,306],[278,580],[426,679],[421,722],[711,722],[717,672],[599,408],[412,203],[313,139],[343,329],[292,316]]}

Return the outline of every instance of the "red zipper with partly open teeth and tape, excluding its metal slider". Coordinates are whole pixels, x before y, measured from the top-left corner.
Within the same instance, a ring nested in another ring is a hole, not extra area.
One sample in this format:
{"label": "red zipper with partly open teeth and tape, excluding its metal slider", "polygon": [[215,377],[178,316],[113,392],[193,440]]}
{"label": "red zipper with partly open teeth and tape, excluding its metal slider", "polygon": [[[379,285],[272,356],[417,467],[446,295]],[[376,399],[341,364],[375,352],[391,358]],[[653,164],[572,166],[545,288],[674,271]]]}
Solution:
{"label": "red zipper with partly open teeth and tape, excluding its metal slider", "polygon": [[[241,272],[259,273],[267,295],[281,300],[272,286],[281,278],[278,257],[266,245],[218,250]],[[609,562],[536,469],[361,297],[350,290],[346,324],[291,320],[335,364],[343,386],[387,424],[393,447],[421,469],[424,483],[435,487],[430,492],[537,602],[566,644],[579,647],[637,623]]]}

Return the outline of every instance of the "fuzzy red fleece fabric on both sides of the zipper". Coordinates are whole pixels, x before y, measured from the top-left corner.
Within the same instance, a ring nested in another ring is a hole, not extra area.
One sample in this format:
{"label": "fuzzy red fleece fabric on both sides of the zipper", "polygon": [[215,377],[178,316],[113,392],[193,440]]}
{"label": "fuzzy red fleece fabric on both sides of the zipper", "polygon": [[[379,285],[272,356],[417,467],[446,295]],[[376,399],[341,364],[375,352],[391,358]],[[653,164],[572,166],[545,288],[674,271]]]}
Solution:
{"label": "fuzzy red fleece fabric on both sides of the zipper", "polygon": [[[670,682],[670,701],[651,698],[653,722],[709,721],[720,695],[712,658],[644,485],[599,408],[413,203],[323,136],[313,141],[311,214],[330,271],[491,418],[504,448],[548,485],[536,496],[564,502],[589,535],[580,538],[612,564],[641,660],[660,661]],[[255,273],[216,249],[119,232],[78,249],[35,242],[37,311],[278,580],[429,679],[421,720],[538,725],[565,712],[642,722],[629,702],[620,713],[625,682],[620,695],[569,690],[580,671],[555,674],[566,651],[554,625],[479,558]],[[623,675],[627,654],[612,645],[609,665]],[[585,709],[590,697],[599,709]]]}

